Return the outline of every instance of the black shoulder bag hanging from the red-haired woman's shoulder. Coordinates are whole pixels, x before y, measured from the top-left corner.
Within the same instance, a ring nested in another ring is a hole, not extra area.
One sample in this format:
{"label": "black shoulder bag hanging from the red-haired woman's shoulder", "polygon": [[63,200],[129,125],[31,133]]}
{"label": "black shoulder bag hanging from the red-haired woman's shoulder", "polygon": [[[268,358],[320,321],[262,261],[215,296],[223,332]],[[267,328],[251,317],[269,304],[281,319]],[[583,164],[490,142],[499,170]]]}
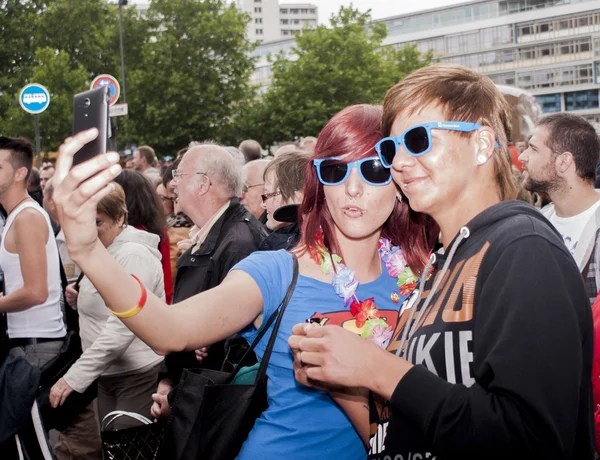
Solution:
{"label": "black shoulder bag hanging from the red-haired woman's shoulder", "polygon": [[[267,366],[285,309],[298,280],[298,260],[287,294],[233,372],[185,369],[176,390],[160,458],[230,460],[237,457],[254,422],[267,408]],[[276,322],[275,322],[276,321]],[[275,322],[253,384],[232,383]]]}

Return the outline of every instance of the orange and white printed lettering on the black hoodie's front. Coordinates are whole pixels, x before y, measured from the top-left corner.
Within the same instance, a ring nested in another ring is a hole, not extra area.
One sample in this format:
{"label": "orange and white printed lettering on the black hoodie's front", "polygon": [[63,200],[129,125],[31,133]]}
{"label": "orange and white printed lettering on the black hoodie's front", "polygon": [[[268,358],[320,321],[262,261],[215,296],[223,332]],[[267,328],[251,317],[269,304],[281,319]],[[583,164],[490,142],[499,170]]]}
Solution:
{"label": "orange and white printed lettering on the black hoodie's front", "polygon": [[[396,354],[406,332],[407,340],[402,346],[400,356],[408,362],[423,365],[450,383],[467,387],[475,383],[472,366],[473,306],[477,275],[489,246],[489,243],[485,243],[476,254],[453,264],[445,273],[439,270],[427,282],[418,303],[417,291],[405,300],[398,314],[394,335],[387,347],[390,353]],[[439,281],[433,298],[427,303],[431,287],[440,276],[443,278]],[[425,310],[422,310],[423,307]],[[390,416],[389,401],[372,395],[369,453],[371,460],[384,460],[389,458],[386,457],[387,453],[398,453],[396,449],[386,451],[385,434]],[[382,454],[381,457],[378,454]],[[416,460],[435,459],[435,456],[430,452],[403,452],[402,455],[392,458]]]}

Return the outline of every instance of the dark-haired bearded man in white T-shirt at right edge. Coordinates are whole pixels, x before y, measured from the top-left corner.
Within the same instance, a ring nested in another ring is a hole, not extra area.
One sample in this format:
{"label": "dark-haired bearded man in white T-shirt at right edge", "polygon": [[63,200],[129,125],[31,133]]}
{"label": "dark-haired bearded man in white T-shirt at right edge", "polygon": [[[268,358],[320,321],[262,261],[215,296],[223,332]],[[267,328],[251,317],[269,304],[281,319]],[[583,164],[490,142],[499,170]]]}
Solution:
{"label": "dark-haired bearded man in white T-shirt at right edge", "polygon": [[542,118],[519,156],[523,187],[547,193],[552,201],[542,213],[575,258],[590,304],[600,288],[600,193],[594,189],[599,152],[598,135],[588,121],[554,113]]}

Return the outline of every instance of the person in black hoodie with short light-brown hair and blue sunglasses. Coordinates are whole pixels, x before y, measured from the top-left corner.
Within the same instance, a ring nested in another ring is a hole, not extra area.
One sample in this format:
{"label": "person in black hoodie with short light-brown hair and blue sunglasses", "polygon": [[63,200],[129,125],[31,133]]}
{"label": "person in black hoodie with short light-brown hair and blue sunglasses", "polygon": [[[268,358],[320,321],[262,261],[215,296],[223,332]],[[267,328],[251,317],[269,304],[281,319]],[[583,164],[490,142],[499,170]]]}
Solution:
{"label": "person in black hoodie with short light-brown hair and blue sunglasses", "polygon": [[560,235],[504,201],[509,110],[491,80],[449,64],[385,98],[381,162],[444,251],[388,352],[335,327],[298,324],[289,340],[300,382],[371,390],[370,459],[594,458],[589,302]]}

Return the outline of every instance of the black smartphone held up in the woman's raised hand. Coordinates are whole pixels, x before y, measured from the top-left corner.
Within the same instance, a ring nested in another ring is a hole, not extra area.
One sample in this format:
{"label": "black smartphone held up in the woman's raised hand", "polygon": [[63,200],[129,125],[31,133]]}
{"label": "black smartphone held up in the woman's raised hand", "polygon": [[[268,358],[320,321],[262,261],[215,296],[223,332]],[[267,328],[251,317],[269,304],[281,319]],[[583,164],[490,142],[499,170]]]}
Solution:
{"label": "black smartphone held up in the woman's raised hand", "polygon": [[73,166],[96,155],[106,153],[110,124],[108,121],[108,87],[91,89],[73,97],[73,135],[91,128],[98,130],[98,137],[84,145],[73,157]]}

